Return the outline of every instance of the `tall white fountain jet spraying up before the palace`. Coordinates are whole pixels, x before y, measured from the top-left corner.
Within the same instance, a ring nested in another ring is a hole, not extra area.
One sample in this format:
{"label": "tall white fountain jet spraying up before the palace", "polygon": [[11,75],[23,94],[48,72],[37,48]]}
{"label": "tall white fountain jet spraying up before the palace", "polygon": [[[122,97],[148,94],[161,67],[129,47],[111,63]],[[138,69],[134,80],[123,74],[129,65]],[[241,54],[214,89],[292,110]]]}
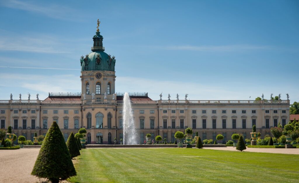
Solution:
{"label": "tall white fountain jet spraying up before the palace", "polygon": [[137,142],[137,132],[132,114],[131,100],[129,94],[123,96],[123,144],[135,145]]}

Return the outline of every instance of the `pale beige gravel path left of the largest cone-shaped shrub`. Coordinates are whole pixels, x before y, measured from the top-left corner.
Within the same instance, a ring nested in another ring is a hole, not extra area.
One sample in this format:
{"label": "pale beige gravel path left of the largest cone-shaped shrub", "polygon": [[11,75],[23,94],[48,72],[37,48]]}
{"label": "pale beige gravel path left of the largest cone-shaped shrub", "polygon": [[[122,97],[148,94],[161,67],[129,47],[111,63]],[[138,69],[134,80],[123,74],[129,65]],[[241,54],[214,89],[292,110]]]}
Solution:
{"label": "pale beige gravel path left of the largest cone-shaped shrub", "polygon": [[41,182],[30,173],[40,148],[0,150],[0,182]]}

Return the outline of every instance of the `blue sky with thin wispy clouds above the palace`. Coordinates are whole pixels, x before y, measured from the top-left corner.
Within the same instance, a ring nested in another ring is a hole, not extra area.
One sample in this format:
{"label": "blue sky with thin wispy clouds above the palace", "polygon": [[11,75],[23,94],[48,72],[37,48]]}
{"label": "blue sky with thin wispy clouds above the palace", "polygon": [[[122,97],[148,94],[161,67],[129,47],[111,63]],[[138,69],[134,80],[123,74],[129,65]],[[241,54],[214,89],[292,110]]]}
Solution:
{"label": "blue sky with thin wispy clouds above the palace", "polygon": [[117,92],[299,101],[299,1],[13,0],[0,16],[3,100],[80,92],[80,56],[99,18]]}

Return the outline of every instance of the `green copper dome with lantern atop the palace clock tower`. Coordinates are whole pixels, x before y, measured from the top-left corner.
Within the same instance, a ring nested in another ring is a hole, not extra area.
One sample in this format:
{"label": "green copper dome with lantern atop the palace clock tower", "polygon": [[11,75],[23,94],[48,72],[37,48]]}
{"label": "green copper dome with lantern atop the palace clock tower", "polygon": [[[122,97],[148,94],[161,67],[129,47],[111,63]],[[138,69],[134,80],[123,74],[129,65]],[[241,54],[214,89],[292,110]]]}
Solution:
{"label": "green copper dome with lantern atop the palace clock tower", "polygon": [[92,52],[80,59],[81,71],[115,71],[115,57],[104,52],[103,36],[97,31],[92,39],[94,40]]}

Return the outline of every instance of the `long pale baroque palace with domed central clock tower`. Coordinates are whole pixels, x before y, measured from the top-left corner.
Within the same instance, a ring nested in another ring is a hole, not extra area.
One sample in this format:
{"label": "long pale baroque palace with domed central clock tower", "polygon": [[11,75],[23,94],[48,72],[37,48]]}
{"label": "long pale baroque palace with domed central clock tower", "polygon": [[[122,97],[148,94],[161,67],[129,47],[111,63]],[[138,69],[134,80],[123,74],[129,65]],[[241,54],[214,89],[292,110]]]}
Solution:
{"label": "long pale baroque palace with domed central clock tower", "polygon": [[[87,142],[113,144],[123,138],[123,93],[115,92],[114,56],[105,53],[97,29],[91,53],[81,57],[81,93],[49,93],[45,100],[0,100],[1,127],[33,140],[45,135],[56,121],[67,140],[71,132],[86,128]],[[140,141],[146,134],[174,142],[176,131],[193,129],[202,140],[217,134],[230,140],[234,133],[250,138],[252,125],[262,137],[270,128],[289,121],[289,100],[152,100],[147,93],[129,93]],[[37,96],[38,98],[38,96]]]}

